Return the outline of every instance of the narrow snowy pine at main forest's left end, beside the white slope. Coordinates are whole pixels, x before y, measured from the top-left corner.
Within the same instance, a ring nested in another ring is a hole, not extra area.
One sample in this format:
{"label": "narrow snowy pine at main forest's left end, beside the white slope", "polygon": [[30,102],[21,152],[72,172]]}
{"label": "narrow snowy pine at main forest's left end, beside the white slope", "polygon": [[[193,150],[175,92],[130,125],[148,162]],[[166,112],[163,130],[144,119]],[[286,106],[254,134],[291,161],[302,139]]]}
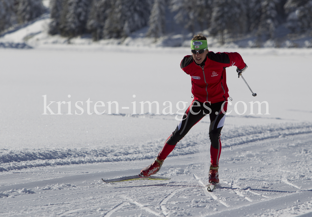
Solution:
{"label": "narrow snowy pine at main forest's left end, beside the white slope", "polygon": [[49,34],[55,35],[60,33],[61,12],[63,0],[50,0],[50,17]]}

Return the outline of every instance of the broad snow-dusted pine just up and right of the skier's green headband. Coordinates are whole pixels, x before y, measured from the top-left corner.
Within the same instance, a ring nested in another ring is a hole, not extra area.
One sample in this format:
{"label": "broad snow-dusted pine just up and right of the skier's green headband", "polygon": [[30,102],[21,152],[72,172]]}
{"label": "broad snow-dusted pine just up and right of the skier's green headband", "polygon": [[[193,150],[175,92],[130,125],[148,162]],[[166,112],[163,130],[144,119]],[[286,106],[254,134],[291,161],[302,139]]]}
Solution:
{"label": "broad snow-dusted pine just up and right of the skier's green headband", "polygon": [[238,36],[246,32],[246,6],[239,0],[214,0],[212,4],[211,27],[212,35],[220,35],[224,44],[224,35]]}

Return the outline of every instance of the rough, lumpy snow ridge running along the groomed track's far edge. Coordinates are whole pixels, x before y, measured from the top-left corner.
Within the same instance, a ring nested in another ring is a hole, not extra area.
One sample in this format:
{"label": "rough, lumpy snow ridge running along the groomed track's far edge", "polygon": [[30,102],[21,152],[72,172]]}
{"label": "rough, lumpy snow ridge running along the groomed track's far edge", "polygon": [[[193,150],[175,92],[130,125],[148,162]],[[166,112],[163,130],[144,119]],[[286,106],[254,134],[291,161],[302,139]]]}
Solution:
{"label": "rough, lumpy snow ridge running along the groomed track's far edge", "polygon": [[[138,121],[138,118],[134,118]],[[173,117],[172,117],[173,118]],[[240,119],[228,117],[229,119]],[[150,122],[157,117],[150,116]],[[163,122],[165,120],[162,120]],[[167,122],[173,120],[167,120]],[[232,120],[233,121],[233,120]],[[130,127],[130,126],[129,126]],[[198,129],[208,129],[209,122],[201,121],[196,126]],[[312,133],[312,125],[309,123],[286,123],[286,124],[271,124],[260,126],[244,126],[237,128],[229,126],[222,131],[222,146],[235,147],[247,142],[261,141],[268,138],[285,137],[292,135],[300,135]],[[224,136],[223,136],[224,135]],[[70,165],[80,163],[93,162],[119,162],[133,161],[143,159],[154,159],[158,150],[163,146],[165,139],[150,140],[149,142],[128,143],[129,146],[115,147],[115,145],[105,145],[98,148],[74,148],[74,149],[22,149],[12,151],[10,149],[2,149],[0,151],[0,171],[9,171],[22,168],[40,167],[40,166],[55,166],[55,165]],[[190,132],[183,141],[179,142],[178,146],[171,153],[171,156],[188,155],[200,153],[202,149],[207,148],[209,143],[208,132],[196,133]],[[156,149],[156,150],[155,150]]]}

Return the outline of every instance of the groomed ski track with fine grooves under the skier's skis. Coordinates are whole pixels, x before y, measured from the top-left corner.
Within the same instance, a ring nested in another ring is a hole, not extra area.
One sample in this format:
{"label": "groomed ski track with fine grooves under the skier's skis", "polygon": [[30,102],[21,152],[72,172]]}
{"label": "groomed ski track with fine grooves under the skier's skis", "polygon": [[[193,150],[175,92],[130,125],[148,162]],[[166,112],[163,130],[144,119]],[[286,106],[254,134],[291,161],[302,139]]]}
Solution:
{"label": "groomed ski track with fine grooves under the skier's skis", "polygon": [[150,159],[4,171],[1,215],[303,215],[312,208],[311,142],[304,133],[223,148],[213,192],[204,187],[208,152],[168,157],[158,175],[169,181],[99,181],[138,174]]}

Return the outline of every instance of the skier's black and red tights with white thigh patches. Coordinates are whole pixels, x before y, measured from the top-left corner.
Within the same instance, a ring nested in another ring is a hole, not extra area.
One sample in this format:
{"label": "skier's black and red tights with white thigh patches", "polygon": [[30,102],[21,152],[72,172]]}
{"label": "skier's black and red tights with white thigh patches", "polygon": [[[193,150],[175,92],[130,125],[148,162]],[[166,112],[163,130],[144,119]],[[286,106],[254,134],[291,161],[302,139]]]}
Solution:
{"label": "skier's black and red tights with white thigh patches", "polygon": [[218,103],[209,102],[201,103],[197,100],[193,100],[191,105],[185,111],[183,118],[178,123],[177,128],[168,137],[163,149],[159,152],[159,159],[166,159],[170,152],[174,149],[176,144],[188,133],[188,131],[204,116],[209,114],[210,126],[209,126],[209,138],[211,141],[210,157],[211,164],[216,166],[219,164],[219,158],[221,154],[221,130],[223,128],[225,113],[227,111],[227,101],[221,101]]}

